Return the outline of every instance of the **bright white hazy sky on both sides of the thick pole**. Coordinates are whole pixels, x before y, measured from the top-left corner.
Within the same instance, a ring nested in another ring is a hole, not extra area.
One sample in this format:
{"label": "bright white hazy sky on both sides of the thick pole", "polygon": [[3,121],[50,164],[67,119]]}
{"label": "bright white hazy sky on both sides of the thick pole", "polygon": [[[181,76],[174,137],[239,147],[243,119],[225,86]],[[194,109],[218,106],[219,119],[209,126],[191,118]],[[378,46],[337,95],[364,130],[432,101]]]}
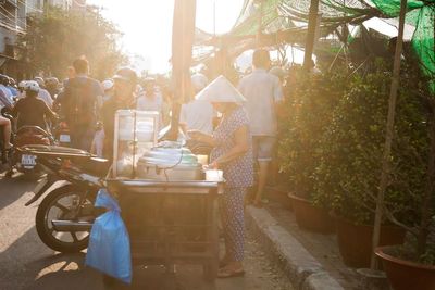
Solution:
{"label": "bright white hazy sky on both sides of the thick pole", "polygon": [[[240,11],[243,0],[197,0],[197,27],[213,31],[213,1],[215,1],[216,33],[231,29]],[[153,72],[169,70],[171,58],[172,17],[174,0],[88,0],[103,7],[102,14],[124,33],[123,48],[142,56],[138,70]],[[145,67],[146,66],[146,67]]]}

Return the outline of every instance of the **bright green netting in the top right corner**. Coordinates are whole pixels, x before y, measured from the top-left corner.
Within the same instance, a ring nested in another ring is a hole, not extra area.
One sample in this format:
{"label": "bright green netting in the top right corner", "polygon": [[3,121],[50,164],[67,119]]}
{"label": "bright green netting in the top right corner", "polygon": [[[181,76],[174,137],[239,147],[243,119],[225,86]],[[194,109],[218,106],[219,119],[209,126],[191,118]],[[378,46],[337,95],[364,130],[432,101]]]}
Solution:
{"label": "bright green netting in the top right corner", "polygon": [[[385,15],[397,17],[400,0],[372,0]],[[420,66],[430,78],[430,87],[435,93],[435,0],[408,0],[407,22],[415,26],[412,49],[420,60]]]}

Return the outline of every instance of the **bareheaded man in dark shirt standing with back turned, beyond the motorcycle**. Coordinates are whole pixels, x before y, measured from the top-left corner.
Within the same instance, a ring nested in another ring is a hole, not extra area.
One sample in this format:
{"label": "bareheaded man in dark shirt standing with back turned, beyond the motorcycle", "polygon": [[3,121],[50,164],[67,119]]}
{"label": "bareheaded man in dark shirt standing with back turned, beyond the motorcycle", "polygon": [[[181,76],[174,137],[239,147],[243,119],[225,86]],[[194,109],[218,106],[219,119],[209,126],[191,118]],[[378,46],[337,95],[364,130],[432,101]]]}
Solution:
{"label": "bareheaded man in dark shirt standing with back turned, beyond the motorcycle", "polygon": [[76,59],[73,66],[75,77],[65,85],[61,110],[70,127],[72,146],[89,151],[97,124],[98,100],[103,92],[101,84],[88,76],[89,63],[86,59]]}

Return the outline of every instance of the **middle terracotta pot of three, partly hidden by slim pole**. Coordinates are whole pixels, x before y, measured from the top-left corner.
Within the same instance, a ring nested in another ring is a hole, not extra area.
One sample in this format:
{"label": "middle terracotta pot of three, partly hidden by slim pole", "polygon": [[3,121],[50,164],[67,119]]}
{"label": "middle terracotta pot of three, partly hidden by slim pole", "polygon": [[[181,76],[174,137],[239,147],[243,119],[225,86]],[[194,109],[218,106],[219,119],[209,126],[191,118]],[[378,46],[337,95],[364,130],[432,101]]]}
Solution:
{"label": "middle terracotta pot of three, partly hidden by slim pole", "polygon": [[[338,249],[347,266],[356,268],[370,267],[372,253],[373,226],[355,225],[352,222],[336,217]],[[381,228],[380,245],[401,244],[405,240],[405,230],[399,227]]]}

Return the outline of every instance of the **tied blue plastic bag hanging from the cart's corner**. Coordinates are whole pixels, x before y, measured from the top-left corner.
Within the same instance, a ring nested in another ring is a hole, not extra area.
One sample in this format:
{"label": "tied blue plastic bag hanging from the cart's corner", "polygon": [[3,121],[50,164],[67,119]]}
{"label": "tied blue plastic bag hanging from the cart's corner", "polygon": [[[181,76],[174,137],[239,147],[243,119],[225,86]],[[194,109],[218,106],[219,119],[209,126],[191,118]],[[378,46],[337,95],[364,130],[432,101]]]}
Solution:
{"label": "tied blue plastic bag hanging from the cart's corner", "polygon": [[132,283],[129,237],[120,215],[120,205],[105,189],[100,189],[95,206],[109,211],[94,222],[85,264]]}

